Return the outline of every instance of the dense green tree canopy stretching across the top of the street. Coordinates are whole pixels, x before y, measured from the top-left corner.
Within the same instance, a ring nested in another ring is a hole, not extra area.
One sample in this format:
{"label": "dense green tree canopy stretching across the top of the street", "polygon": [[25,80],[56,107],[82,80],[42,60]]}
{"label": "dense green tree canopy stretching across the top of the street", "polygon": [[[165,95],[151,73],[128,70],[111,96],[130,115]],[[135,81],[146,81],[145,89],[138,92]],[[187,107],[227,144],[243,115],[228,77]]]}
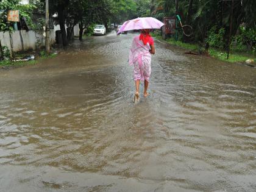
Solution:
{"label": "dense green tree canopy stretching across the top of the street", "polygon": [[[19,9],[21,15],[29,18],[31,6],[35,5],[37,12],[44,13],[44,0],[30,0],[30,6],[21,6],[19,2],[1,1],[1,30],[10,29],[6,14],[3,14],[8,9]],[[231,36],[236,44],[255,49],[255,0],[52,0],[49,6],[51,15],[57,14],[64,45],[72,37],[71,31],[76,24],[79,24],[82,39],[84,29],[91,24],[108,27],[110,23],[121,24],[141,16],[162,20],[165,16],[179,14],[182,23],[194,29],[190,38],[180,35],[183,41],[208,42],[211,46],[227,48]]]}

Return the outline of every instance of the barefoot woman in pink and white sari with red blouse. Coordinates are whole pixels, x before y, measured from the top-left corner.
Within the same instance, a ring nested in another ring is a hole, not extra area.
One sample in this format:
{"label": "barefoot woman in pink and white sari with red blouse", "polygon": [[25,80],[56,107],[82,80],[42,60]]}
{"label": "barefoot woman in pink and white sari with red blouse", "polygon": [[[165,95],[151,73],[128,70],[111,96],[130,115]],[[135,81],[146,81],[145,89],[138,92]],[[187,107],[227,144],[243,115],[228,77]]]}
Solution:
{"label": "barefoot woman in pink and white sari with red blouse", "polygon": [[147,90],[151,74],[151,54],[155,54],[154,40],[149,35],[149,31],[149,29],[142,29],[141,34],[133,38],[132,47],[130,48],[129,64],[134,66],[135,103],[140,99],[140,81],[144,81],[144,97],[146,98],[149,95]]}

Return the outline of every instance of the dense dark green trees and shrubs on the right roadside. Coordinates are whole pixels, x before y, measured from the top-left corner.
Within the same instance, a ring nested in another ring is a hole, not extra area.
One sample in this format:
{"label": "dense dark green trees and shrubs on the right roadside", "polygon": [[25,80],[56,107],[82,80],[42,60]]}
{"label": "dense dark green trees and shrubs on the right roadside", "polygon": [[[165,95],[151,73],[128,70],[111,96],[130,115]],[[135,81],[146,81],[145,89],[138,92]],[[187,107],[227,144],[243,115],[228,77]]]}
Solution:
{"label": "dense dark green trees and shrubs on the right roadside", "polygon": [[[153,1],[151,1],[153,2]],[[174,16],[176,1],[155,0],[155,17]],[[233,43],[231,50],[250,50],[255,53],[255,0],[179,0],[178,14],[183,24],[193,27],[193,35],[185,38],[182,32],[179,36],[186,42],[205,42],[216,48],[227,48],[230,34],[230,10],[233,9],[231,35]],[[246,26],[241,29],[241,26]],[[239,29],[240,28],[240,29]],[[240,31],[237,34],[238,30]]]}

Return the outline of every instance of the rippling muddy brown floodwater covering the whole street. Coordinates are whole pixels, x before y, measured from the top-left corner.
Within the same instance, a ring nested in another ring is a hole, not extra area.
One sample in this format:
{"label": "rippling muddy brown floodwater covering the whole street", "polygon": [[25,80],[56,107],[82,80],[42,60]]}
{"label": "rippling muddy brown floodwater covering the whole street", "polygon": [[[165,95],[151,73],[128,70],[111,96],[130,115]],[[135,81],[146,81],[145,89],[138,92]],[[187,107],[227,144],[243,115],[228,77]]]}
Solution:
{"label": "rippling muddy brown floodwater covering the whole street", "polygon": [[156,40],[134,105],[134,35],[0,71],[0,191],[256,190],[256,69]]}

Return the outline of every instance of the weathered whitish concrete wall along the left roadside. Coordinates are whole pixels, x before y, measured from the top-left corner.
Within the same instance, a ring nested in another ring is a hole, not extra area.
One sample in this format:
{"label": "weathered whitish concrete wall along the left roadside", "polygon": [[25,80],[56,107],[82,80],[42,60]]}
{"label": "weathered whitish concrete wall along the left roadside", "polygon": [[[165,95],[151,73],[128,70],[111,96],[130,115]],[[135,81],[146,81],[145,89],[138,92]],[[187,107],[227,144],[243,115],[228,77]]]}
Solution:
{"label": "weathered whitish concrete wall along the left roadside", "polygon": [[[28,49],[37,49],[44,46],[45,38],[43,32],[35,32],[34,30],[15,30],[11,34],[9,32],[0,32],[0,40],[2,46],[10,49],[10,35],[13,41],[13,51],[26,51]],[[50,30],[50,44],[55,43],[54,29]]]}

